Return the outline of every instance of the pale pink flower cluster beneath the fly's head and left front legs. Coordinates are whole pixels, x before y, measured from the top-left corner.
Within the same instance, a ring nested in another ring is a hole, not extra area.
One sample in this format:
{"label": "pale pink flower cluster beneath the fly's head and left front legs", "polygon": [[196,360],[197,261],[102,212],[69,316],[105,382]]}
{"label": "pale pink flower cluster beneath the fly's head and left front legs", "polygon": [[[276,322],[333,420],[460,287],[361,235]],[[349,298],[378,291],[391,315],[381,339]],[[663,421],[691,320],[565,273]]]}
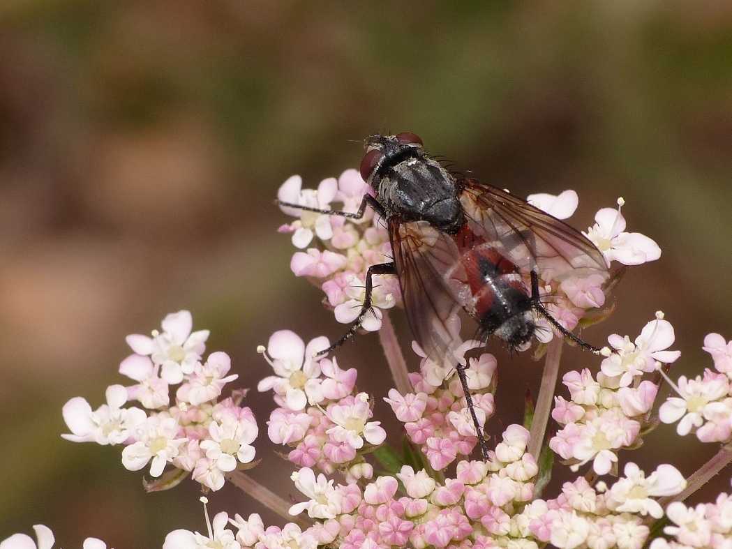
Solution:
{"label": "pale pink flower cluster beneath the fly's head and left front legs", "polygon": [[[302,178],[292,176],[277,193],[280,201],[318,209],[337,209],[354,213],[367,193],[372,193],[356,170],[346,170],[336,180],[324,179],[318,189],[302,189]],[[326,294],[337,321],[351,324],[361,311],[365,298],[366,272],[371,265],[389,261],[392,248],[383,220],[366,209],[361,219],[307,212],[280,206],[285,214],[297,217],[282,225],[281,233],[291,233],[299,250],[290,268],[298,277],[307,277]],[[377,276],[372,294],[372,309],[362,328],[373,332],[381,328],[381,310],[397,305],[401,299],[395,277]]]}

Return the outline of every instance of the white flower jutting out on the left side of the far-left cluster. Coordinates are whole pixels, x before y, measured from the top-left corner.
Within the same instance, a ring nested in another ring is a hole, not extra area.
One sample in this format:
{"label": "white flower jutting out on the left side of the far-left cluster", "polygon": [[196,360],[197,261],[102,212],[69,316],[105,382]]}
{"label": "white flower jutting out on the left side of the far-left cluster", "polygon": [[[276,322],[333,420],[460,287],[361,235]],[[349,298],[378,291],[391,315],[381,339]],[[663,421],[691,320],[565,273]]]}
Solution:
{"label": "white flower jutting out on the left side of the far-left cluster", "polygon": [[107,403],[92,411],[82,397],[75,397],[64,404],[63,415],[72,434],[61,435],[72,442],[96,442],[97,444],[122,444],[127,441],[146,414],[140,408],[122,408],[127,402],[127,390],[122,385],[108,386]]}

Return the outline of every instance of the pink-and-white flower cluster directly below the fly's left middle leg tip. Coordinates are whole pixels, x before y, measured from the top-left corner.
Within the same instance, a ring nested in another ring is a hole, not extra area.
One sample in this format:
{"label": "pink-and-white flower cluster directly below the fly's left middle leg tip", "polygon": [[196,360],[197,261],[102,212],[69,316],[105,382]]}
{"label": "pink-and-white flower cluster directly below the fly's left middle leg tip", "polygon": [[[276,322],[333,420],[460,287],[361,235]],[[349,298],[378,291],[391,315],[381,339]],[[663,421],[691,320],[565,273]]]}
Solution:
{"label": "pink-and-white flower cluster directly below the fly's left middle leg tip", "polygon": [[259,348],[276,374],[258,385],[260,391],[272,389],[278,405],[267,422],[269,438],[294,447],[288,458],[301,467],[370,477],[359,451],[384,442],[386,432],[369,421],[368,395],[354,390],[356,369],[341,370],[335,358],[316,356],[327,347],[326,337],[305,346],[294,332],[280,330]]}

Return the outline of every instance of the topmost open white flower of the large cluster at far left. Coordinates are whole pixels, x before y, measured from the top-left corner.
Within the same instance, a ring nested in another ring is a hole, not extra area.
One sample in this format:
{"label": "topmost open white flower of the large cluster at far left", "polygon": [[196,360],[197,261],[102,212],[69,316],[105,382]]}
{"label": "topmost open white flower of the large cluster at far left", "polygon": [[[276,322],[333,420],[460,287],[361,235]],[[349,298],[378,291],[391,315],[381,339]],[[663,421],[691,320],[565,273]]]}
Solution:
{"label": "topmost open white flower of the large cluster at far left", "polygon": [[209,330],[191,333],[193,317],[187,310],[165,316],[162,327],[163,332],[154,330],[152,337],[128,335],[127,345],[137,354],[150,355],[154,364],[163,366],[163,379],[169,384],[178,384],[183,381],[183,374],[193,373],[206,350]]}

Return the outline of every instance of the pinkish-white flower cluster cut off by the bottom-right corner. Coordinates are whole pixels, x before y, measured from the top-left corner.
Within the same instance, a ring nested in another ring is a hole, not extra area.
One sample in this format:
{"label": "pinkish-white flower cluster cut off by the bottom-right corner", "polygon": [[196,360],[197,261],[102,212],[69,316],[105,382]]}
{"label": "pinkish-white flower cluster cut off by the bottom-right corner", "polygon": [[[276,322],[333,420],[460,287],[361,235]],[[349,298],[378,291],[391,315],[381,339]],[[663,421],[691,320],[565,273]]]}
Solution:
{"label": "pinkish-white flower cluster cut off by the bottom-right corner", "polygon": [[663,533],[672,539],[657,538],[650,549],[728,549],[732,547],[732,496],[720,493],[710,504],[687,507],[675,501],[666,508],[671,526]]}

